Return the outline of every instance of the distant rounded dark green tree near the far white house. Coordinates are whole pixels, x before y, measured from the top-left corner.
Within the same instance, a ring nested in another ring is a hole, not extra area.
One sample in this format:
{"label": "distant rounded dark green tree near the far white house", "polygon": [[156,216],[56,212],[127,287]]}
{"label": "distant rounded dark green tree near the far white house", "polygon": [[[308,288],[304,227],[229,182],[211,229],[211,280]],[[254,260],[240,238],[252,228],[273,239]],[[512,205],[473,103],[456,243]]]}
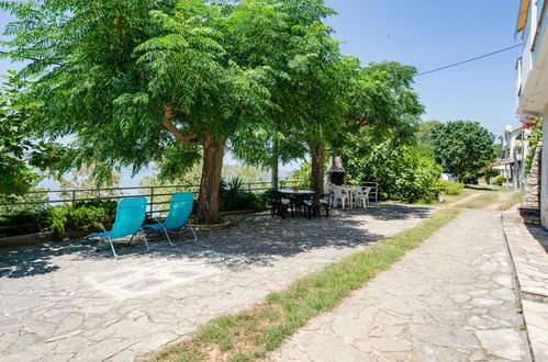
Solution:
{"label": "distant rounded dark green tree near the far white house", "polygon": [[432,136],[436,160],[461,181],[493,161],[493,134],[472,121],[448,122]]}

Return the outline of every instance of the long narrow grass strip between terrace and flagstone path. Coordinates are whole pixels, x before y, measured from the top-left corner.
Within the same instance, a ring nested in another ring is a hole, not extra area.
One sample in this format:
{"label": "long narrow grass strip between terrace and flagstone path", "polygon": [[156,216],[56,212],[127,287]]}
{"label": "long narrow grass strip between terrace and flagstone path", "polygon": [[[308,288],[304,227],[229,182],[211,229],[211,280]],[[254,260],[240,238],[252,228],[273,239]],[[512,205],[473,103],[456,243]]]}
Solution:
{"label": "long narrow grass strip between terrace and flagstone path", "polygon": [[202,325],[189,341],[152,354],[147,361],[251,361],[264,359],[311,318],[332,310],[351,291],[400,260],[443,226],[457,210],[441,210],[421,225],[355,252],[236,315]]}

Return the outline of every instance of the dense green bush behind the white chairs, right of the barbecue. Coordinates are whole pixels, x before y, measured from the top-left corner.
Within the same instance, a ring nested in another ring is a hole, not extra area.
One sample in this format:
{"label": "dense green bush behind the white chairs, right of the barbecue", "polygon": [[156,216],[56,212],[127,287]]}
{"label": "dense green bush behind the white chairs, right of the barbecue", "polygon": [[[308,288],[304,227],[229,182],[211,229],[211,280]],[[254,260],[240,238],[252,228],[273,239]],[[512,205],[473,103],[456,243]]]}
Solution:
{"label": "dense green bush behind the white chairs, right of the barbecue", "polygon": [[350,182],[378,182],[384,200],[435,200],[439,193],[441,168],[418,146],[398,139],[374,143],[362,133],[355,145],[344,150]]}

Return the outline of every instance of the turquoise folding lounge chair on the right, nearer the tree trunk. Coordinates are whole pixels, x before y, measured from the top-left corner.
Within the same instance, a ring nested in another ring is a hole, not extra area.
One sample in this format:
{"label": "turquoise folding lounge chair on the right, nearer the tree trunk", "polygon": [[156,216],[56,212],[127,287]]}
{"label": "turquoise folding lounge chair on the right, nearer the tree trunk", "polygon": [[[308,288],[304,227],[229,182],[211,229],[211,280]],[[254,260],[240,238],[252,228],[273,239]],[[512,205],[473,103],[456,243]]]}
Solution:
{"label": "turquoise folding lounge chair on the right, nearer the tree trunk", "polygon": [[175,247],[176,245],[171,241],[169,234],[179,234],[179,230],[182,228],[188,228],[192,233],[194,239],[191,242],[198,241],[198,237],[192,229],[192,225],[189,223],[193,201],[194,194],[191,192],[174,193],[171,195],[171,201],[169,202],[169,214],[164,222],[156,218],[158,224],[145,225],[143,228],[164,231],[167,241],[171,247]]}

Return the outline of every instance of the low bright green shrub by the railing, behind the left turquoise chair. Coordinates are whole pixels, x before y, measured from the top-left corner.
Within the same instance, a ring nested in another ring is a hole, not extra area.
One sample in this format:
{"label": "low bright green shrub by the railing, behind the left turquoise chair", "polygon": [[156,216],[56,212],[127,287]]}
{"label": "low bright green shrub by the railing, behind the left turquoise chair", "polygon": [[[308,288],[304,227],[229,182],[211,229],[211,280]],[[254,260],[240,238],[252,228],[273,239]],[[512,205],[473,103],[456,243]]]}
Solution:
{"label": "low bright green shrub by the railing, behind the left turquoise chair", "polygon": [[63,238],[67,231],[88,231],[98,229],[99,224],[109,227],[116,213],[113,201],[86,201],[71,205],[52,207],[46,228],[55,238]]}

